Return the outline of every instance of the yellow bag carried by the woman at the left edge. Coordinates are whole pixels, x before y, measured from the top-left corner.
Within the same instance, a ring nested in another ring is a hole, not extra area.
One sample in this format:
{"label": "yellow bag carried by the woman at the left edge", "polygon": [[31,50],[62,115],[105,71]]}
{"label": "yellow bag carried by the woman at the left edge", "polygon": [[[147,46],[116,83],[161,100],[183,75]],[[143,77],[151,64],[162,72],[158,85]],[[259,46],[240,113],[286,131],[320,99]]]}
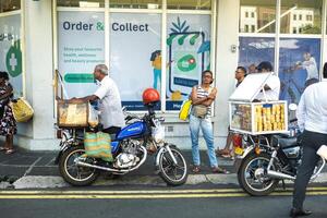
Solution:
{"label": "yellow bag carried by the woman at the left edge", "polygon": [[24,98],[19,98],[10,102],[10,106],[13,117],[17,122],[27,122],[34,114],[33,108]]}

